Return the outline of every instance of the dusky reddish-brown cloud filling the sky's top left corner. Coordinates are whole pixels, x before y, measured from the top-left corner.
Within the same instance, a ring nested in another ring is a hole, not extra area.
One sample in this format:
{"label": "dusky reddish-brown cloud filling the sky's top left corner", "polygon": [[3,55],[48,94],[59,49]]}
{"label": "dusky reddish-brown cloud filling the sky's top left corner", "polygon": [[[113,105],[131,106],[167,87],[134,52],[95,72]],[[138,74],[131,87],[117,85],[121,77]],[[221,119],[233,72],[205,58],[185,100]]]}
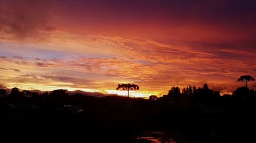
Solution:
{"label": "dusky reddish-brown cloud filling the sky's top left corner", "polygon": [[1,1],[0,2],[0,30],[16,39],[37,37],[40,30],[53,31],[49,26],[51,17],[51,3],[49,1]]}

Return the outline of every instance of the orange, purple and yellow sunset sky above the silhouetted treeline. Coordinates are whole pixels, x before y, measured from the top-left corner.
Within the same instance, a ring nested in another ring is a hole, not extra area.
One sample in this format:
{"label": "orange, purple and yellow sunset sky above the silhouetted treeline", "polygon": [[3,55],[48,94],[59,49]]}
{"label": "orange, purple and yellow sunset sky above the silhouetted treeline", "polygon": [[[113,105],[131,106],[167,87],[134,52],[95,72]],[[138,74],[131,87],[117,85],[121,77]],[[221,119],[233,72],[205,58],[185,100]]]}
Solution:
{"label": "orange, purple and yellow sunset sky above the silhouetted treeline", "polygon": [[1,0],[0,50],[0,88],[230,94],[256,78],[256,1]]}

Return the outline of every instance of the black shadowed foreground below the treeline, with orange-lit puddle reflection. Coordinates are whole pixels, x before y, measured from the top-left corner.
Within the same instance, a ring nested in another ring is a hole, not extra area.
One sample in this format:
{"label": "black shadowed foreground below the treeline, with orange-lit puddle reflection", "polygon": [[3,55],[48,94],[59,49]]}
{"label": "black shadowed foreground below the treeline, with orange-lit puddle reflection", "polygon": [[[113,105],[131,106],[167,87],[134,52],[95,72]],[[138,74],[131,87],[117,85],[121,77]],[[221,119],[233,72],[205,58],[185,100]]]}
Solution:
{"label": "black shadowed foreground below the treeline, with orange-lit puddle reflection", "polygon": [[117,96],[77,97],[69,102],[44,99],[39,104],[27,100],[1,98],[2,137],[83,142],[255,142],[254,98],[204,103]]}

